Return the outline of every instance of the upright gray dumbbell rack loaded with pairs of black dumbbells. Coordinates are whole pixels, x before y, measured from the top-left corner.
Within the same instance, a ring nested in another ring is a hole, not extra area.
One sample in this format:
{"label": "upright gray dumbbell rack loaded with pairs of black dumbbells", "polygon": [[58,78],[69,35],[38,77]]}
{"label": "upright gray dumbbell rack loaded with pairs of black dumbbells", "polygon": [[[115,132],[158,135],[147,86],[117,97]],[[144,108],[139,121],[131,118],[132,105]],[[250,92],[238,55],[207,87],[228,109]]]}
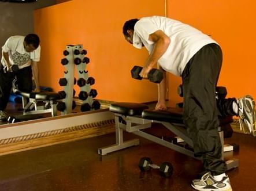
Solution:
{"label": "upright gray dumbbell rack loaded with pairs of black dumbbells", "polygon": [[[100,104],[93,98],[97,96],[97,91],[91,89],[91,85],[94,84],[94,78],[88,76],[86,65],[90,62],[90,59],[85,57],[87,51],[83,49],[83,45],[66,45],[66,49],[63,52],[65,58],[61,60],[61,64],[65,67],[64,78],[60,79],[60,85],[64,86],[62,95],[64,98],[64,105],[58,107],[61,114],[68,114],[75,108],[75,102],[73,96],[75,96],[75,90],[73,89],[76,84],[75,79],[75,66],[78,75],[77,85],[80,87],[79,99],[82,100],[81,111],[88,111],[92,109],[99,109]],[[62,80],[62,82],[61,82]],[[95,106],[96,105],[96,106]]]}

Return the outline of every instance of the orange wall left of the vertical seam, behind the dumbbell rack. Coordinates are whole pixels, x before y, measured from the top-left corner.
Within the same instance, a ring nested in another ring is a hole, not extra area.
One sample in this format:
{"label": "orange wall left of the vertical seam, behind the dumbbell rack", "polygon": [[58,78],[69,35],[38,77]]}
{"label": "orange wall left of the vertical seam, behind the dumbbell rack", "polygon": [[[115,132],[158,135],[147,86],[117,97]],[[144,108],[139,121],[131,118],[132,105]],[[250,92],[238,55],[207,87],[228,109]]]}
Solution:
{"label": "orange wall left of the vertical seam, behind the dumbbell rack", "polygon": [[[61,59],[66,44],[83,44],[91,62],[98,99],[146,102],[157,100],[157,85],[131,78],[134,65],[143,65],[146,50],[138,50],[124,40],[125,21],[143,16],[164,15],[164,0],[84,1],[73,0],[35,11],[35,32],[41,39],[39,64],[42,86],[62,90]],[[76,88],[77,94],[79,89]]]}

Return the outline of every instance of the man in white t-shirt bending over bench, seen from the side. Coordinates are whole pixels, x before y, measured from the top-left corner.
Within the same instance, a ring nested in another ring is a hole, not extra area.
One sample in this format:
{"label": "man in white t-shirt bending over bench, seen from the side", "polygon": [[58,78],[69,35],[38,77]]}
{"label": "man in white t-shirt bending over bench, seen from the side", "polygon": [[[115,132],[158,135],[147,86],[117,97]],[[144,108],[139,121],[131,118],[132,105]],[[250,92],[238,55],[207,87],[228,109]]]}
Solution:
{"label": "man in white t-shirt bending over bench, seen from the side", "polygon": [[159,16],[129,20],[123,26],[123,34],[134,47],[146,47],[149,51],[141,77],[147,78],[155,64],[164,72],[164,79],[158,85],[155,109],[166,110],[166,71],[183,79],[184,124],[194,143],[195,156],[203,158],[207,171],[201,179],[192,181],[192,187],[196,190],[232,190],[225,174],[227,165],[221,158],[218,109],[223,116],[240,116],[253,133],[255,103],[251,96],[217,103],[216,85],[222,64],[220,46],[190,25]]}

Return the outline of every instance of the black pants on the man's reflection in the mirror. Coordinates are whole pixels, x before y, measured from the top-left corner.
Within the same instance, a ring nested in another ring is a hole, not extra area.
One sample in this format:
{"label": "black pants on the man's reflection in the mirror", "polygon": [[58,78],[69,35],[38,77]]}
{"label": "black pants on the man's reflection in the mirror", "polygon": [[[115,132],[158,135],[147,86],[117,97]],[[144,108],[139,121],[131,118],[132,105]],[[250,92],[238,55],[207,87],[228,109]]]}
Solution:
{"label": "black pants on the man's reflection in the mirror", "polygon": [[18,70],[16,75],[13,72],[0,70],[0,110],[5,110],[12,89],[13,79],[17,78],[18,89],[24,92],[32,91],[32,69],[31,66]]}

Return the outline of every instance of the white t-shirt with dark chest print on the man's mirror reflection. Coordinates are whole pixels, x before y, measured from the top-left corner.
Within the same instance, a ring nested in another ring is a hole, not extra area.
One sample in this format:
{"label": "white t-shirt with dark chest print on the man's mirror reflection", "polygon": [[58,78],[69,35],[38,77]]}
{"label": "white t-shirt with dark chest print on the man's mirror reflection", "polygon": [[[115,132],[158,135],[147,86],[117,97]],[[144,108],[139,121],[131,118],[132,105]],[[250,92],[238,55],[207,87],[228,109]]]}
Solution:
{"label": "white t-shirt with dark chest print on the man's mirror reflection", "polygon": [[[24,48],[24,36],[11,36],[2,47],[3,52],[9,53],[10,64],[16,64],[18,68],[24,68],[31,65],[31,60],[39,62],[40,45],[35,51],[27,52]],[[1,63],[6,66],[5,59],[2,56]]]}

